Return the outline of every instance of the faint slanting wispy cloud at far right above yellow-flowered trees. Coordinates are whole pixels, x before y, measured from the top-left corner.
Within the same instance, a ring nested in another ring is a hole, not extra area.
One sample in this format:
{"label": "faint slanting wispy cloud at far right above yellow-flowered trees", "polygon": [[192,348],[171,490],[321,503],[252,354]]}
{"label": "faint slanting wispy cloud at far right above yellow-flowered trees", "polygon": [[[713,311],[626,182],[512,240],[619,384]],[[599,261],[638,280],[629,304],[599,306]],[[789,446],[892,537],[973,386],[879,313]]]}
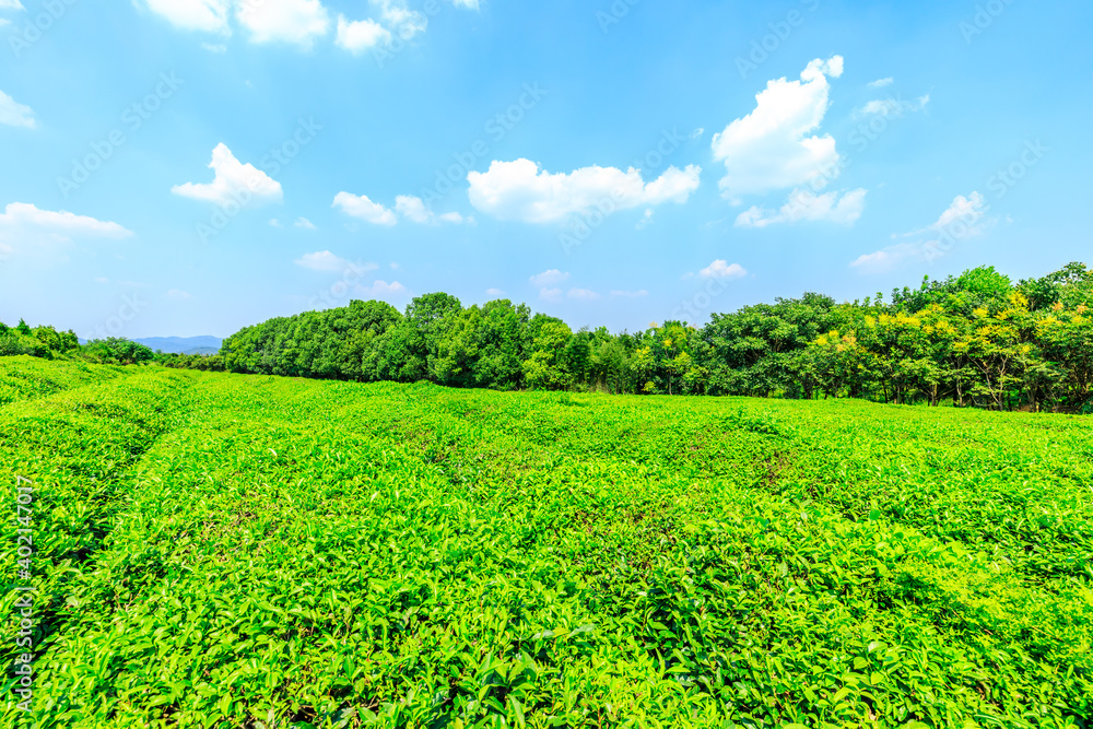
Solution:
{"label": "faint slanting wispy cloud at far right above yellow-flowered trees", "polygon": [[897,243],[872,254],[859,256],[850,263],[862,273],[883,273],[907,260],[933,261],[944,256],[954,245],[982,235],[991,223],[987,219],[990,207],[979,192],[968,197],[956,196],[937,222],[918,231],[904,233],[902,238],[917,238]]}

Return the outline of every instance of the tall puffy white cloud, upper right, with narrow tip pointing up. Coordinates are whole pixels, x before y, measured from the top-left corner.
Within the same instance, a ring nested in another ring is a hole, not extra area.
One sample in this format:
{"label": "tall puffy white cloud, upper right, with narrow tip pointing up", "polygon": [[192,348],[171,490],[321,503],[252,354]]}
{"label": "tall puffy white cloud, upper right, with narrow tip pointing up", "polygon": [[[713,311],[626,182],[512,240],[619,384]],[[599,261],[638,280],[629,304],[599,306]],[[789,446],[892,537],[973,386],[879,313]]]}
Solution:
{"label": "tall puffy white cloud, upper right, with narrow tip pointing up", "polygon": [[755,96],[755,110],[714,136],[714,157],[725,163],[725,197],[800,187],[837,169],[831,134],[810,136],[827,113],[828,77],[843,74],[843,58],[808,64],[799,81],[777,79]]}

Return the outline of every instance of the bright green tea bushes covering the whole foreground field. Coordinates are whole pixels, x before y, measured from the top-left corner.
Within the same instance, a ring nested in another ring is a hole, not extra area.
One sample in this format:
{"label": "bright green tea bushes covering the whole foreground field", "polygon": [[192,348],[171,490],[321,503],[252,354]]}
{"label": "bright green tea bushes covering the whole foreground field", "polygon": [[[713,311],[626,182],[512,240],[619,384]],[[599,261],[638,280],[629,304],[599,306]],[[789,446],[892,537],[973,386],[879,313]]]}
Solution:
{"label": "bright green tea bushes covering the whole foreground field", "polygon": [[1093,726],[1088,419],[72,367],[2,727]]}

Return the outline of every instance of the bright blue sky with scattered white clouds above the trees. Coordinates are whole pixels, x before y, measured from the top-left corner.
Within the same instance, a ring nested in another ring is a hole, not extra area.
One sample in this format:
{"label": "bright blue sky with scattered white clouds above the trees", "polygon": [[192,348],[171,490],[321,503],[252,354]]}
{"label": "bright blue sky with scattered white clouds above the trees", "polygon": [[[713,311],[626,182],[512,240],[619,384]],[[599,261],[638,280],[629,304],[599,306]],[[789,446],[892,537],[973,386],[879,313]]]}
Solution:
{"label": "bright blue sky with scattered white clouds above the trees", "polygon": [[635,330],[1042,275],[1089,260],[1089,27],[1077,0],[0,0],[0,320],[226,336],[446,291]]}

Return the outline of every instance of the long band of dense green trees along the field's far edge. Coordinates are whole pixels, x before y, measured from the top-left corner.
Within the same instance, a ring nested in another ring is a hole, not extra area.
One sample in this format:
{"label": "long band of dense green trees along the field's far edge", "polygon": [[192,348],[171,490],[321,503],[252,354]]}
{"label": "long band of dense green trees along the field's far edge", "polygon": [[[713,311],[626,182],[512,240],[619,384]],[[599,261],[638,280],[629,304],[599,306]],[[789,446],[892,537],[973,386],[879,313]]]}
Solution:
{"label": "long band of dense green trees along the field's far edge", "polygon": [[247,327],[207,357],[0,324],[0,355],[500,390],[597,390],[1093,412],[1093,271],[1071,263],[1013,283],[991,267],[853,303],[807,293],[666,321],[573,331],[507,299],[449,294],[307,311]]}

